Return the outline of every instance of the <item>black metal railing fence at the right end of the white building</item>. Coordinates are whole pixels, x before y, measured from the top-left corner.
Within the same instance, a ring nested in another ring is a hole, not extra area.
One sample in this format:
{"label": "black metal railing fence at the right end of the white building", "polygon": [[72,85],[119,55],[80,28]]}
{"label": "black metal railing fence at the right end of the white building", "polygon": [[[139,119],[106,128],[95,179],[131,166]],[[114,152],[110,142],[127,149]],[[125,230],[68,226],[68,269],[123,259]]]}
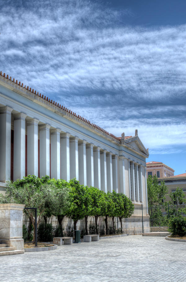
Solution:
{"label": "black metal railing fence at the right end of the white building", "polygon": [[178,214],[186,216],[186,205],[135,207],[133,215],[122,220],[123,233],[137,235],[168,231],[170,217]]}

